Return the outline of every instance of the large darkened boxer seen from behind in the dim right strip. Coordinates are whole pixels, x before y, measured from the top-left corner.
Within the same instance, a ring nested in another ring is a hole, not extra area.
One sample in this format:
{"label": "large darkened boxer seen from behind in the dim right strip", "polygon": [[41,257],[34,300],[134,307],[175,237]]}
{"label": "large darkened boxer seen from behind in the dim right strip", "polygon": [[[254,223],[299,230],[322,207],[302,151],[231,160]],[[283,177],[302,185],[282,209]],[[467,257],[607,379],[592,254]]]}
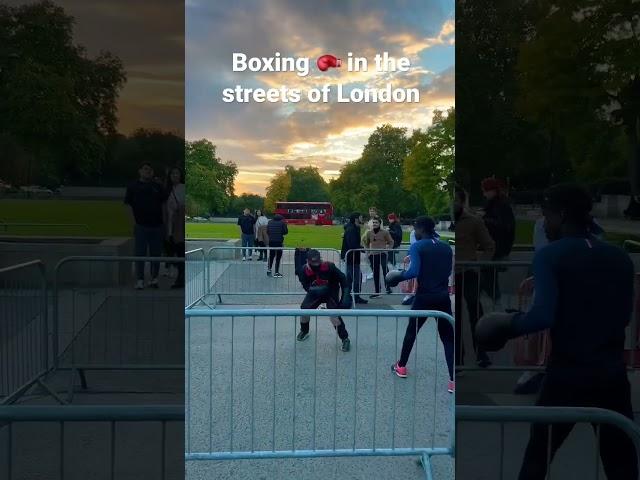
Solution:
{"label": "large darkened boxer seen from behind in the dim right strip", "polygon": [[[624,361],[633,263],[622,249],[591,234],[591,207],[589,193],[579,185],[556,185],[545,193],[542,212],[550,243],[533,259],[533,305],[527,313],[485,315],[476,336],[479,345],[495,351],[511,338],[551,329],[551,355],[536,405],[604,408],[633,419]],[[572,428],[533,425],[519,479],[546,478],[548,462]],[[609,480],[638,478],[634,445],[622,431],[602,425],[598,441]]]}

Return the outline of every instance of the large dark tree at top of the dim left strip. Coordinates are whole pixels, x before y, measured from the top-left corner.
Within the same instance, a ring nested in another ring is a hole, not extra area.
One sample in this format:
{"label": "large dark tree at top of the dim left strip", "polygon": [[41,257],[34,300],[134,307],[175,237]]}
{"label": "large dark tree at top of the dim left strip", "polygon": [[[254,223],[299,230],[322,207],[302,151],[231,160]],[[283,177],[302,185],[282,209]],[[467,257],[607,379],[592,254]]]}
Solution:
{"label": "large dark tree at top of the dim left strip", "polygon": [[0,177],[56,184],[95,173],[117,124],[120,59],[90,58],[49,1],[0,5]]}

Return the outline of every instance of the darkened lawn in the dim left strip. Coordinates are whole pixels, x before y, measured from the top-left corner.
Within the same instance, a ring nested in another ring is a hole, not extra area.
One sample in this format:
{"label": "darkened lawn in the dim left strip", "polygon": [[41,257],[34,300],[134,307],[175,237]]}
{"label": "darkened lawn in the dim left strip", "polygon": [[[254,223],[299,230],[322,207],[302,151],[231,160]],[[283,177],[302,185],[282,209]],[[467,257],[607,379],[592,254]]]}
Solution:
{"label": "darkened lawn in the dim left strip", "polygon": [[[3,223],[82,226],[4,226]],[[130,237],[131,221],[118,200],[0,200],[0,234],[24,236]]]}

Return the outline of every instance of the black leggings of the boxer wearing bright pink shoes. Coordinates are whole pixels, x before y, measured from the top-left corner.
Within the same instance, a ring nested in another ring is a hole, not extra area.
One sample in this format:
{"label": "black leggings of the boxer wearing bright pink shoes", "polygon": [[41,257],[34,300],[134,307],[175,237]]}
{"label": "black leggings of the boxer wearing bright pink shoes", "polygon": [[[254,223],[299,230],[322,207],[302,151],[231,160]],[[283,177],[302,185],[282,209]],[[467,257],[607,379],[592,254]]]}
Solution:
{"label": "black leggings of the boxer wearing bright pink shoes", "polygon": [[[442,298],[436,301],[429,300],[424,295],[417,294],[411,305],[411,310],[438,310],[440,312],[448,313],[451,315],[451,300],[449,297]],[[409,355],[413,349],[413,344],[416,341],[418,332],[422,326],[426,323],[426,317],[411,317],[409,318],[409,324],[404,334],[404,340],[402,341],[402,353],[400,354],[400,360],[398,364],[404,367],[409,361]],[[453,348],[454,348],[454,333],[453,326],[444,319],[437,319],[438,321],[438,335],[440,341],[444,347],[444,356],[447,361],[447,369],[449,370],[449,380],[453,380]]]}

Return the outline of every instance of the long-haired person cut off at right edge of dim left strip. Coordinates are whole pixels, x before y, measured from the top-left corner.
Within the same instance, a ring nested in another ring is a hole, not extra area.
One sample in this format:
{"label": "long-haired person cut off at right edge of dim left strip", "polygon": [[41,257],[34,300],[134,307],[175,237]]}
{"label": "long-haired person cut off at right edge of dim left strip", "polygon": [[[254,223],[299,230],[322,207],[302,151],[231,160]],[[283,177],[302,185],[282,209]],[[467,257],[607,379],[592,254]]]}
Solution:
{"label": "long-haired person cut off at right edge of dim left strip", "polygon": [[[184,258],[184,214],[185,188],[182,170],[173,167],[169,170],[167,182],[167,238],[170,255]],[[184,288],[184,262],[177,262],[178,277],[171,288]]]}

